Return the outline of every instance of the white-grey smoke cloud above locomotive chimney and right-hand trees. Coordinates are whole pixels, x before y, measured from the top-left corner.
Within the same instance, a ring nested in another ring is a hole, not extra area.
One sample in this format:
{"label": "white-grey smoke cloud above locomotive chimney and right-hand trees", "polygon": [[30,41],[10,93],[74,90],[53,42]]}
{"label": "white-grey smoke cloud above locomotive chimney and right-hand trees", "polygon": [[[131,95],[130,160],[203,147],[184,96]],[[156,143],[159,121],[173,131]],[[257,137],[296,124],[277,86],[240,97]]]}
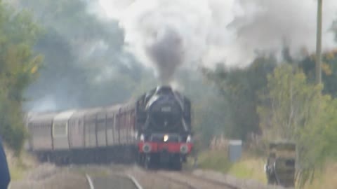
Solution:
{"label": "white-grey smoke cloud above locomotive chimney and right-hand trees", "polygon": [[[141,62],[154,66],[162,82],[183,65],[224,62],[245,66],[256,50],[315,52],[316,0],[99,0],[104,15],[117,19],[124,41]],[[337,1],[325,0],[323,49],[335,46],[331,24]]]}

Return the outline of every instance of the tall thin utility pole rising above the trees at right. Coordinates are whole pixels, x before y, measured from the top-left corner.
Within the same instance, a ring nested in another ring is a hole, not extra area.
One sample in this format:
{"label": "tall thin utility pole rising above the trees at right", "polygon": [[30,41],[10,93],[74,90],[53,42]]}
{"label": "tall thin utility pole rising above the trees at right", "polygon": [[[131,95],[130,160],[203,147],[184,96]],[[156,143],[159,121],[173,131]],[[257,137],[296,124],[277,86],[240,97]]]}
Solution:
{"label": "tall thin utility pole rising above the trees at right", "polygon": [[317,0],[316,82],[322,83],[322,1]]}

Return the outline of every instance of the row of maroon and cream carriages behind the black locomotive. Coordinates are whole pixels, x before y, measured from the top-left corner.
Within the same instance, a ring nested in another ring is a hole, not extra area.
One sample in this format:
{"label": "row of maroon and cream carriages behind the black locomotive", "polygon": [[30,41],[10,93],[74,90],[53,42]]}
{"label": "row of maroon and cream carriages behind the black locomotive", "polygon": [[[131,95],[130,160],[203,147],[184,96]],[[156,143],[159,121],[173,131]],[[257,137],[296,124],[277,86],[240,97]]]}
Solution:
{"label": "row of maroon and cream carriages behind the black locomotive", "polygon": [[43,156],[41,161],[128,162],[135,158],[135,102],[79,111],[30,113],[27,128],[32,136],[28,147]]}

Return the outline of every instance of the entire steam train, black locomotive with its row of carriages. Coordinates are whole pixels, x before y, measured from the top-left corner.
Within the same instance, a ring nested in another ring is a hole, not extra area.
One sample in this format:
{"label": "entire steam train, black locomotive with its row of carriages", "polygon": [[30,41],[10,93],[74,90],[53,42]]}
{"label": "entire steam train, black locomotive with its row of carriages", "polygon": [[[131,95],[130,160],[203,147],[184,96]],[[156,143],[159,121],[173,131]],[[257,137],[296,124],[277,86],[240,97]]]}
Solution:
{"label": "entire steam train, black locomotive with its row of carriages", "polygon": [[28,113],[27,150],[39,160],[133,162],[181,169],[192,151],[191,103],[169,86],[95,109]]}

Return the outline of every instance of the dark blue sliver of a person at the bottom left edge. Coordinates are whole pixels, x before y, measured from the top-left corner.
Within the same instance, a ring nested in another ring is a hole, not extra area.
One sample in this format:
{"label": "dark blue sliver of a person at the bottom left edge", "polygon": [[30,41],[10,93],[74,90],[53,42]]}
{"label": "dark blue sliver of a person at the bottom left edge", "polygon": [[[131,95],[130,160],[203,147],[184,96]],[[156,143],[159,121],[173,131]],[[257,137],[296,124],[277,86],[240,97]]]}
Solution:
{"label": "dark blue sliver of a person at the bottom left edge", "polygon": [[9,174],[6,154],[0,138],[0,189],[6,189],[10,181],[11,176]]}

